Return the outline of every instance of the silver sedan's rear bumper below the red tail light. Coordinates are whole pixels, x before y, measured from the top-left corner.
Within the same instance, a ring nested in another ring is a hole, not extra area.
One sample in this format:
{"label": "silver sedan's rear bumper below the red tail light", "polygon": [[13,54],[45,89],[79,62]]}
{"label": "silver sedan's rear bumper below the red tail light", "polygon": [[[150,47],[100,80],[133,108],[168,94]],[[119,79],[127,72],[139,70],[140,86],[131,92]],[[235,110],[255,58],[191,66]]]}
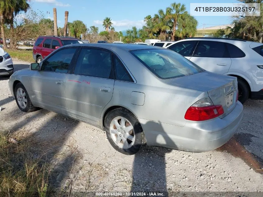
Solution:
{"label": "silver sedan's rear bumper below the red tail light", "polygon": [[185,126],[175,126],[139,119],[146,143],[189,152],[207,152],[225,144],[236,133],[243,117],[243,106],[236,107],[223,119],[186,121]]}

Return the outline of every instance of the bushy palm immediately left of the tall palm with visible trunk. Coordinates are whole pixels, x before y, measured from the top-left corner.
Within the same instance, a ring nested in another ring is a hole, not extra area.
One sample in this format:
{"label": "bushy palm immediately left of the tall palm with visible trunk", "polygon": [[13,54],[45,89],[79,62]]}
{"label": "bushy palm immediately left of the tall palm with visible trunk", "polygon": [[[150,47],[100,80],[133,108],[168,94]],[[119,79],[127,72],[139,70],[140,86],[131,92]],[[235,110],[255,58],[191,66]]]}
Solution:
{"label": "bushy palm immediately left of the tall palm with visible trunk", "polygon": [[158,10],[158,13],[154,15],[153,21],[156,21],[153,31],[155,33],[160,32],[162,35],[166,35],[167,30],[170,29],[168,26],[169,19],[162,9]]}

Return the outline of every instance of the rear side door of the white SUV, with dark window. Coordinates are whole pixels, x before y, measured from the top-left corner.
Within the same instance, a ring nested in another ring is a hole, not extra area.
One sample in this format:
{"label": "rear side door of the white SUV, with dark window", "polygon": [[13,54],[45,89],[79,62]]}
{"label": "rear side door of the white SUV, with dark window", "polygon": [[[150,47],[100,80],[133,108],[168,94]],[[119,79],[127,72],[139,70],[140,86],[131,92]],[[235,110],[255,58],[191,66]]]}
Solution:
{"label": "rear side door of the white SUV, with dark window", "polygon": [[232,63],[224,42],[201,40],[190,61],[207,71],[224,74]]}

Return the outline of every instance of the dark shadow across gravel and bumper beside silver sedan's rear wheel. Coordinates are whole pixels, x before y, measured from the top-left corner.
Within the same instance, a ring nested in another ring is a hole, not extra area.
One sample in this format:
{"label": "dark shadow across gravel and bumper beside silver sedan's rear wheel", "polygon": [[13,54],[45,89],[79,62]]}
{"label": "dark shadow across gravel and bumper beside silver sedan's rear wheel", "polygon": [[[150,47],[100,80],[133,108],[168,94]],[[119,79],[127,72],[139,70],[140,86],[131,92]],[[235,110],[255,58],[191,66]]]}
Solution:
{"label": "dark shadow across gravel and bumper beside silver sedan's rear wheel", "polygon": [[[162,125],[157,122],[148,122],[142,125],[143,128],[151,128],[162,133],[164,146],[176,147],[173,141],[164,132]],[[155,133],[154,131],[152,133]],[[157,136],[155,136],[157,140]],[[168,196],[166,184],[166,161],[165,154],[171,152],[169,148],[148,147],[135,154],[133,163],[131,192],[162,192]],[[143,169],[143,170],[139,170]]]}

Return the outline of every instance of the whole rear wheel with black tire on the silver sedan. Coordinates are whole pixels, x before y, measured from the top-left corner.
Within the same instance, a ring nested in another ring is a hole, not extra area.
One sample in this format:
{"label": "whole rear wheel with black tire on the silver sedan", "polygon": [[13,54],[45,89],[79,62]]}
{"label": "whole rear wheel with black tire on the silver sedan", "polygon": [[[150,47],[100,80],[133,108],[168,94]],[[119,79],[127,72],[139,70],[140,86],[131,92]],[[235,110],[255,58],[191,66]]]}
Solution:
{"label": "whole rear wheel with black tire on the silver sedan", "polygon": [[[116,121],[118,123],[117,126]],[[111,146],[125,155],[133,155],[145,145],[141,124],[125,108],[117,108],[110,111],[105,117],[105,128]],[[131,128],[132,130],[130,130]]]}

